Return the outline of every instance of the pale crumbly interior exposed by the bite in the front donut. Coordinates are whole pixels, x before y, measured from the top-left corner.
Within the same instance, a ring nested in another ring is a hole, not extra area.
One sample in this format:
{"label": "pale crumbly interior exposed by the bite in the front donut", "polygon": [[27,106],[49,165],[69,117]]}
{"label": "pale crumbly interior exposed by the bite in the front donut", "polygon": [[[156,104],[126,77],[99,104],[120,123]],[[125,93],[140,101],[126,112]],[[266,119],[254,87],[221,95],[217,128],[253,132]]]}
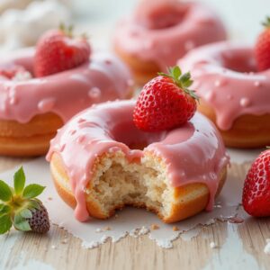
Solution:
{"label": "pale crumbly interior exposed by the bite in the front donut", "polygon": [[124,205],[134,205],[166,216],[173,198],[173,188],[167,183],[166,166],[157,158],[146,155],[140,164],[130,163],[118,151],[103,157],[88,195],[105,214]]}

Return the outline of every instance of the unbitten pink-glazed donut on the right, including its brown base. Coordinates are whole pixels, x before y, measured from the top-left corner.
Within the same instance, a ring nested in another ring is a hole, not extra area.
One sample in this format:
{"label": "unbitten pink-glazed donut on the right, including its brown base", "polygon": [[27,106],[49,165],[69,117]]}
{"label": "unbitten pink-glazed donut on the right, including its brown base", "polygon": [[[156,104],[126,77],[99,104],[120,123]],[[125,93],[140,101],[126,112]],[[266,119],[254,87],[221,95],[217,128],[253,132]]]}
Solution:
{"label": "unbitten pink-glazed donut on the right, including its brown base", "polygon": [[194,49],[179,61],[193,75],[199,111],[219,128],[225,144],[270,144],[270,69],[257,72],[251,47],[220,42]]}

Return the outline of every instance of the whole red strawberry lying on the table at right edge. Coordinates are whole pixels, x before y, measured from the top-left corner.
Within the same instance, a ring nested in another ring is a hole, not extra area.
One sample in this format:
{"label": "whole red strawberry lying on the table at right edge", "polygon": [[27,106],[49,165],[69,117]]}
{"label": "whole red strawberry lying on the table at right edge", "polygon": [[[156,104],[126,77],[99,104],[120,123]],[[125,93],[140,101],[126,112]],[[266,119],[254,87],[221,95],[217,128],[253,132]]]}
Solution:
{"label": "whole red strawberry lying on the table at right edge", "polygon": [[270,149],[257,157],[244,184],[242,203],[254,217],[270,216]]}

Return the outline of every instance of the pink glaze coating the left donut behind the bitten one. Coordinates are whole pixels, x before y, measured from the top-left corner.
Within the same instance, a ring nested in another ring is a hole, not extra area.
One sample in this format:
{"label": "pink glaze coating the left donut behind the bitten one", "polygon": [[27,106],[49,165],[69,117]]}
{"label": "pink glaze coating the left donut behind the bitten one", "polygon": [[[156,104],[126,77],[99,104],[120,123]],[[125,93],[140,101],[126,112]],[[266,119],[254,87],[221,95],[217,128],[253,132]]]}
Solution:
{"label": "pink glaze coating the left donut behind the bitten one", "polygon": [[[23,49],[0,65],[22,65],[32,72],[33,56],[33,49]],[[118,58],[97,52],[88,63],[52,76],[1,80],[0,119],[24,123],[37,114],[55,112],[66,122],[93,103],[127,98],[130,83],[130,72]]]}

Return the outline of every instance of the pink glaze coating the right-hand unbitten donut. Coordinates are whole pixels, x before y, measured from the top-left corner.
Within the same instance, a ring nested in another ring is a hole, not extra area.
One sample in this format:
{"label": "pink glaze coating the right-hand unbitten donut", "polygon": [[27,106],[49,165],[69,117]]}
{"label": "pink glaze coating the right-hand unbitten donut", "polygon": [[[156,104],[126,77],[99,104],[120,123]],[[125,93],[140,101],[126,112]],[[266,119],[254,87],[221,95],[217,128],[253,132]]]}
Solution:
{"label": "pink glaze coating the right-hand unbitten donut", "polygon": [[238,116],[270,113],[270,69],[257,72],[253,49],[219,42],[194,49],[178,65],[191,71],[193,89],[216,112],[220,130]]}

